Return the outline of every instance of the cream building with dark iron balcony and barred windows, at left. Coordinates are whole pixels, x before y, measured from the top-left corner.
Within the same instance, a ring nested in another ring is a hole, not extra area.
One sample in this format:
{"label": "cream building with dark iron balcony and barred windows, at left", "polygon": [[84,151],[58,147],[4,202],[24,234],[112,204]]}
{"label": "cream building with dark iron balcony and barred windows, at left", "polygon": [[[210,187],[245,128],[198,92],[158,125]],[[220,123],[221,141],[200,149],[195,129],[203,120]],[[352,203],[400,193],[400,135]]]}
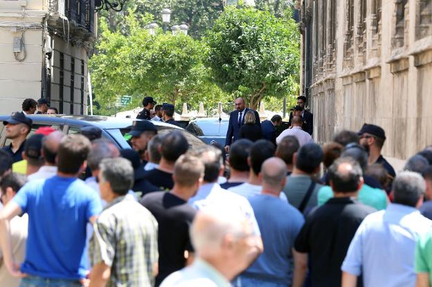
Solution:
{"label": "cream building with dark iron balcony and barred windows, at left", "polygon": [[87,113],[94,0],[0,0],[0,114],[26,98]]}

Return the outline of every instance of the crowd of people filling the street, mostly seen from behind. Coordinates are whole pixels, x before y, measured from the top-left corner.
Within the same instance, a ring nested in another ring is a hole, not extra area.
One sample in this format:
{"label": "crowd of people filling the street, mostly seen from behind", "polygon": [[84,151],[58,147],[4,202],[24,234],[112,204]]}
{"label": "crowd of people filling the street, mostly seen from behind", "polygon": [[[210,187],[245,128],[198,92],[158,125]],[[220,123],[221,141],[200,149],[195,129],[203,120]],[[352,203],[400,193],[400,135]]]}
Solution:
{"label": "crowd of people filling the street, mostly seen from behind", "polygon": [[321,147],[307,117],[275,145],[237,99],[225,147],[136,120],[119,150],[96,127],[28,137],[13,113],[0,286],[431,286],[432,147],[396,174],[381,127]]}

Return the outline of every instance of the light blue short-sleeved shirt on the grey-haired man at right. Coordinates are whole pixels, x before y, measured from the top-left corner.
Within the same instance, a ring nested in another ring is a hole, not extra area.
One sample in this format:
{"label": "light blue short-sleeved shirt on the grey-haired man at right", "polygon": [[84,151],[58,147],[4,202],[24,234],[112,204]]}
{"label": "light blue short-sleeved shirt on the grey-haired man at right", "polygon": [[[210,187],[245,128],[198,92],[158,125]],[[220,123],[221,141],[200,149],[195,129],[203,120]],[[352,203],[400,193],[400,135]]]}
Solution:
{"label": "light blue short-sleeved shirt on the grey-haired man at right", "polygon": [[366,216],[341,269],[362,274],[364,286],[415,286],[415,244],[431,227],[414,207],[391,203]]}

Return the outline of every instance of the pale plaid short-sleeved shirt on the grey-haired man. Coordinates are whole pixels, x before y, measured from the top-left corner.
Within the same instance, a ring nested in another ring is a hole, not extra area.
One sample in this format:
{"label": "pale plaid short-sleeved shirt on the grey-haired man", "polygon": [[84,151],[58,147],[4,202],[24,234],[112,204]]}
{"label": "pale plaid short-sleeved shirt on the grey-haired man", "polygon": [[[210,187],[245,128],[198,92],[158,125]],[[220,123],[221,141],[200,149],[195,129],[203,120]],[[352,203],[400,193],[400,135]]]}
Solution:
{"label": "pale plaid short-sleeved shirt on the grey-haired man", "polygon": [[153,266],[158,260],[157,222],[131,196],[108,203],[93,225],[89,244],[93,266],[111,268],[107,286],[154,286]]}

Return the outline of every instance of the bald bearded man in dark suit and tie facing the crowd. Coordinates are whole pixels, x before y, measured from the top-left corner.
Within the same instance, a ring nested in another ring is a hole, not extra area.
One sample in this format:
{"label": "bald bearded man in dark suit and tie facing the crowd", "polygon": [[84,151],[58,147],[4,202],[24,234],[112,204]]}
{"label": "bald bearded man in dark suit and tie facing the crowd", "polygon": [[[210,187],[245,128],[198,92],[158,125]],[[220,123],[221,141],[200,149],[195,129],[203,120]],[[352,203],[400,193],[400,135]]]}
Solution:
{"label": "bald bearded man in dark suit and tie facing the crowd", "polygon": [[[251,109],[246,108],[246,102],[244,102],[243,98],[235,99],[235,111],[230,113],[230,120],[228,123],[228,131],[226,131],[225,138],[225,151],[229,152],[229,147],[231,143],[235,142],[238,139],[240,127],[244,124],[244,115],[248,111],[253,111]],[[255,124],[258,127],[261,127],[260,115],[258,111],[253,111],[255,113]]]}

